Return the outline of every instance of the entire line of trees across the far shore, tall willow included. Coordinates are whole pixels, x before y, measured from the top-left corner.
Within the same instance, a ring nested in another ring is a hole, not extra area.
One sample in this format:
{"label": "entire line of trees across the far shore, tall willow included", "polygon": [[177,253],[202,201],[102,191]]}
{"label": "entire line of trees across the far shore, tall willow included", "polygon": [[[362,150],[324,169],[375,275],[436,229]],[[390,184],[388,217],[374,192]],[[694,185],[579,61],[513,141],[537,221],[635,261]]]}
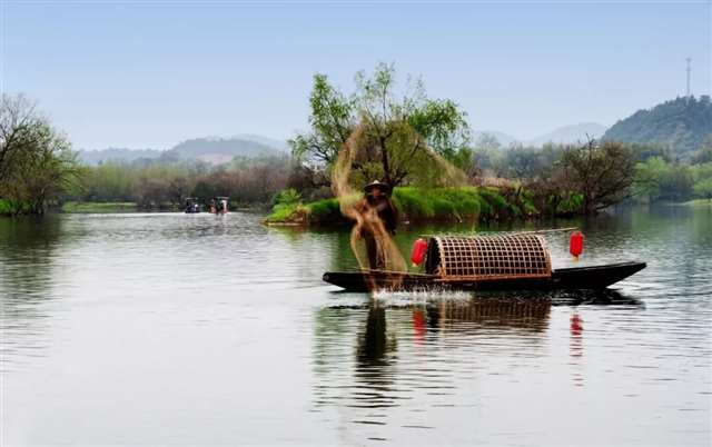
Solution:
{"label": "entire line of trees across the far shore, tall willow included", "polygon": [[349,176],[356,188],[373,179],[394,187],[495,186],[550,215],[595,213],[623,200],[712,198],[712,137],[684,162],[653,145],[504,148],[487,135],[473,141],[455,101],[431,98],[419,79],[398,83],[394,66],[385,63],[358,72],[348,95],[316,74],[309,107],[309,129],[289,140],[291,155],[237,157],[219,166],[158,158],[90,167],[31,101],[2,95],[0,213],[42,213],[68,200],[144,209],[180,208],[186,197],[270,203],[285,189],[308,201],[329,198],[332,171],[347,143],[357,150]]}

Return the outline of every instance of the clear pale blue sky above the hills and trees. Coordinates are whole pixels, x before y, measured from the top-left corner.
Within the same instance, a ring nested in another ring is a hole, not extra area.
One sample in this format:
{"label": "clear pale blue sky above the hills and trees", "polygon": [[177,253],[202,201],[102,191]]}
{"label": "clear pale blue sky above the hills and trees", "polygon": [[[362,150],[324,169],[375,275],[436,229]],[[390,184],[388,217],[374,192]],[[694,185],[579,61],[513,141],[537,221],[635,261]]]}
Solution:
{"label": "clear pale blue sky above the hills and trees", "polygon": [[533,139],[712,90],[712,2],[0,0],[0,88],[77,149],[169,149],[308,129],[315,73],[345,93],[394,63],[475,130]]}

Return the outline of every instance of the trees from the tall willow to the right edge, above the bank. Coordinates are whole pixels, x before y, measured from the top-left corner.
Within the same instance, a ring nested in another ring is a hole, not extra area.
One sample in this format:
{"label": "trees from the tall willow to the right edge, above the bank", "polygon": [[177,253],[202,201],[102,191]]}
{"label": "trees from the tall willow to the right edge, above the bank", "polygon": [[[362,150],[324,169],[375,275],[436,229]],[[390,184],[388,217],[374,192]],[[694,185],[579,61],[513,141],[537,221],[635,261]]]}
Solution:
{"label": "trees from the tall willow to the right edge, above the bank", "polygon": [[587,140],[503,148],[487,135],[472,141],[467,116],[455,101],[429,98],[419,80],[398,88],[395,74],[384,63],[370,74],[359,72],[350,95],[325,74],[314,77],[310,129],[289,141],[304,171],[296,189],[307,200],[329,186],[346,143],[360,149],[350,173],[355,187],[374,178],[392,186],[448,186],[453,176],[437,162],[444,159],[464,172],[466,183],[500,187],[513,200],[527,195],[551,215],[595,213],[623,200],[709,197],[704,145],[684,165],[654,145]]}

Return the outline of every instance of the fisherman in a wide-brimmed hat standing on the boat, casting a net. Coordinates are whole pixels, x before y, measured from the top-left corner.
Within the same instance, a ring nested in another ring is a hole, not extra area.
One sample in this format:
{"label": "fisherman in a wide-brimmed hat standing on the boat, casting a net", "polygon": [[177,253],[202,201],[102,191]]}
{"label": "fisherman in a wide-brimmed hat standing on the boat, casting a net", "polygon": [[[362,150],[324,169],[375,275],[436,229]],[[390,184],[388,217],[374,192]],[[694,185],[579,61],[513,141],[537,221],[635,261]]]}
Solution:
{"label": "fisherman in a wide-brimmed hat standing on the boat, casting a net", "polygon": [[[364,217],[360,237],[366,242],[370,268],[383,270],[386,268],[386,259],[383,249],[378,247],[378,234],[383,230],[389,235],[396,234],[398,210],[390,201],[390,186],[387,183],[374,180],[364,187],[364,198],[357,205],[358,212]],[[380,220],[382,226],[377,220]]]}

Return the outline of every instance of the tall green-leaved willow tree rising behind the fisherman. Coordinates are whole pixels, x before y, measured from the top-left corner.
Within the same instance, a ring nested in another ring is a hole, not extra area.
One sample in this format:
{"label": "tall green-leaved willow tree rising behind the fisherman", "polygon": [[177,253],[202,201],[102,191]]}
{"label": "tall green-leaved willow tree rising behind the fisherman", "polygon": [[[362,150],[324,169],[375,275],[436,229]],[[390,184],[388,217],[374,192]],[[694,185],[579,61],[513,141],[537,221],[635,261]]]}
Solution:
{"label": "tall green-leaved willow tree rising behind the fisherman", "polygon": [[309,97],[309,132],[290,140],[293,153],[328,169],[356,128],[359,157],[354,178],[378,178],[397,186],[432,173],[434,158],[452,158],[471,140],[466,113],[448,99],[432,99],[423,82],[397,89],[393,64],[379,63],[372,74],[360,71],[350,96],[316,74]]}

